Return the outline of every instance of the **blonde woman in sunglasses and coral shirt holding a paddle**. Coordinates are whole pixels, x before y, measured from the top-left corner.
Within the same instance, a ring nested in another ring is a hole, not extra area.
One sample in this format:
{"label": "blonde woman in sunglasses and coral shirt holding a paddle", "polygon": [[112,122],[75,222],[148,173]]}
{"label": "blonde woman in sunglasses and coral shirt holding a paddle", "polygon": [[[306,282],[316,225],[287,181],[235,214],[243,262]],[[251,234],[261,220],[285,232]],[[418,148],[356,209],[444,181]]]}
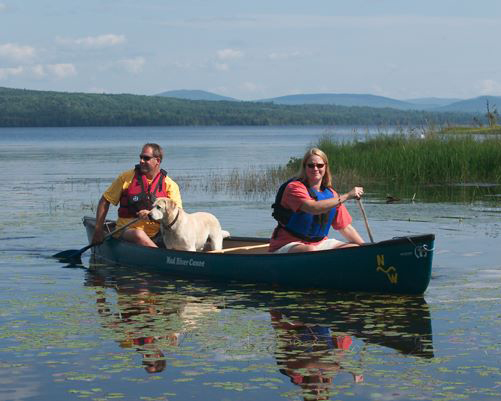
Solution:
{"label": "blonde woman in sunglasses and coral shirt holding a paddle", "polygon": [[[351,225],[352,218],[343,202],[358,199],[362,187],[338,195],[332,189],[332,178],[327,156],[320,149],[306,152],[299,177],[280,187],[273,204],[273,217],[278,226],[270,240],[270,252],[308,252],[358,246],[364,240]],[[328,239],[332,226],[348,243]]]}

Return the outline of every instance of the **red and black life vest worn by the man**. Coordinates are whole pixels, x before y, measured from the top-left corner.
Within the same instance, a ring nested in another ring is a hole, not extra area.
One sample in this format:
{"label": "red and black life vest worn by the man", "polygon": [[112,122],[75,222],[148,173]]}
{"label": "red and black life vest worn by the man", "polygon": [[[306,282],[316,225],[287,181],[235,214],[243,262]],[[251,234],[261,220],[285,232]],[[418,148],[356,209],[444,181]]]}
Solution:
{"label": "red and black life vest worn by the man", "polygon": [[146,176],[141,174],[139,165],[136,165],[134,170],[132,182],[127,189],[122,191],[118,217],[137,217],[137,212],[140,210],[151,210],[157,198],[168,197],[165,187],[165,177],[167,176],[165,170],[160,170],[149,185]]}

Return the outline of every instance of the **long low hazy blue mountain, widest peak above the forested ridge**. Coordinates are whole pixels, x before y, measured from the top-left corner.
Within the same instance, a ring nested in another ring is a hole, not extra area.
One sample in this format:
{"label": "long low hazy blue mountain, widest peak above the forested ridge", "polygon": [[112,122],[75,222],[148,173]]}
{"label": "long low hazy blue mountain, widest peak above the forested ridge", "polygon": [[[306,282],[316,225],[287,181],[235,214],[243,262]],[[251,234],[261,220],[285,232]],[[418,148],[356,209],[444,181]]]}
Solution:
{"label": "long low hazy blue mountain, widest peak above the forested ridge", "polygon": [[416,104],[402,100],[391,99],[376,95],[358,95],[350,93],[316,93],[316,94],[298,94],[274,97],[271,99],[262,99],[259,102],[272,102],[284,105],[299,104],[328,104],[337,106],[359,106],[359,107],[391,107],[399,110],[419,110],[421,107]]}

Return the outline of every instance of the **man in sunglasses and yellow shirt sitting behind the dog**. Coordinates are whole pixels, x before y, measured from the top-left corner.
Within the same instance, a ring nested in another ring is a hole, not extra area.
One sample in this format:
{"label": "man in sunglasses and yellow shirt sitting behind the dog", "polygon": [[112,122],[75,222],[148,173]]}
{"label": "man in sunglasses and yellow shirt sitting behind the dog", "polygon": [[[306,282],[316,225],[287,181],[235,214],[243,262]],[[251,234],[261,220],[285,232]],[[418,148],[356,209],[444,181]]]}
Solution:
{"label": "man in sunglasses and yellow shirt sitting behind the dog", "polygon": [[156,143],[147,143],[139,155],[139,164],[134,169],[120,174],[104,192],[96,212],[96,230],[93,244],[104,239],[103,226],[110,203],[117,206],[117,228],[140,217],[141,220],[121,232],[121,238],[139,245],[156,248],[153,238],[158,234],[160,224],[148,220],[149,212],[156,198],[167,197],[182,207],[178,185],[160,169],[163,150]]}

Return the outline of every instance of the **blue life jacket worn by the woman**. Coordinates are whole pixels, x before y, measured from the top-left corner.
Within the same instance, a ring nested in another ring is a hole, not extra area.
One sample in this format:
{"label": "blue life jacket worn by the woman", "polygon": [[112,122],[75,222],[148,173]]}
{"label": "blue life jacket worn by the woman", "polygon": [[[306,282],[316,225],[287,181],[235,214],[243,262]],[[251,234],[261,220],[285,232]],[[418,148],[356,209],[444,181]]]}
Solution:
{"label": "blue life jacket worn by the woman", "polygon": [[[293,181],[301,182],[298,178],[292,178],[284,182],[278,189],[275,203],[271,205],[273,209],[271,215],[278,221],[278,226],[275,229],[274,235],[276,235],[279,228],[283,228],[304,241],[321,241],[329,234],[329,228],[336,217],[337,208],[334,207],[326,213],[315,215],[303,211],[293,212],[283,207],[281,202],[285,188]],[[334,198],[334,194],[329,188],[321,188],[320,191],[316,191],[312,188],[308,188],[303,182],[301,183],[306,187],[310,196],[316,201]]]}

